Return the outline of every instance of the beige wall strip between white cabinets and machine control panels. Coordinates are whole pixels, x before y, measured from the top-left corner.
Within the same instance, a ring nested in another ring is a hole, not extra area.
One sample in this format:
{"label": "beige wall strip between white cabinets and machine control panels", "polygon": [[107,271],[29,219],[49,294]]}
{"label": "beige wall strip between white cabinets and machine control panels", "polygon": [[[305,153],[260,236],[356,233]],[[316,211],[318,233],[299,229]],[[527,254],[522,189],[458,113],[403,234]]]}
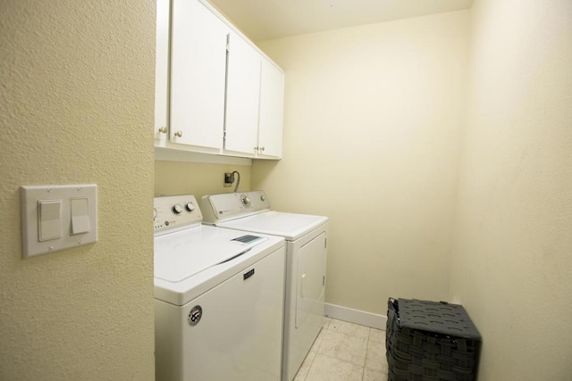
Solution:
{"label": "beige wall strip between white cabinets and machine control panels", "polygon": [[250,190],[249,165],[204,164],[194,162],[155,162],[155,195],[194,195],[197,200],[203,195],[230,193],[232,186],[223,186],[224,173],[238,170],[239,192]]}

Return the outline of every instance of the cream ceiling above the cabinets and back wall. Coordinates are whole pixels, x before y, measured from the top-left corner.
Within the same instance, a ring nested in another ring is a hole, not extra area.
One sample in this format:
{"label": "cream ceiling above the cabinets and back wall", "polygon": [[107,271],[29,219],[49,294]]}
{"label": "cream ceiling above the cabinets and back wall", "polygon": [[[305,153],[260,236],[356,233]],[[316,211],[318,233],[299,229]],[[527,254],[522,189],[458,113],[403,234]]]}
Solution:
{"label": "cream ceiling above the cabinets and back wall", "polygon": [[470,8],[474,0],[208,0],[254,41]]}

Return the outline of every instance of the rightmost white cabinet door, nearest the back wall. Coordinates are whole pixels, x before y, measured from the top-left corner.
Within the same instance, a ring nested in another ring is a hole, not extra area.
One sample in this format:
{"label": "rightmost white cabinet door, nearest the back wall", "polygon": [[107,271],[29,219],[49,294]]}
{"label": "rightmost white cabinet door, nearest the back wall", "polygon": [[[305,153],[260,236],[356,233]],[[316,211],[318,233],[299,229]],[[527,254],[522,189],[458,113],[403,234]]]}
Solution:
{"label": "rightmost white cabinet door, nearest the back wall", "polygon": [[258,156],[282,157],[284,73],[265,59],[260,77]]}

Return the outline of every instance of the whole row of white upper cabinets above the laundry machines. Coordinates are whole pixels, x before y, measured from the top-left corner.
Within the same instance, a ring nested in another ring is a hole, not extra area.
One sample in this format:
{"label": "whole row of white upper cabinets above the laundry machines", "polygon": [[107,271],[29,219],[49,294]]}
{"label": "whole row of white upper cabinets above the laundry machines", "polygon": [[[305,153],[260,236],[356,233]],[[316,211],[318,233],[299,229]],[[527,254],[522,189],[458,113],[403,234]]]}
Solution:
{"label": "whole row of white upper cabinets above the laundry machines", "polygon": [[158,151],[280,159],[283,71],[206,0],[156,4]]}

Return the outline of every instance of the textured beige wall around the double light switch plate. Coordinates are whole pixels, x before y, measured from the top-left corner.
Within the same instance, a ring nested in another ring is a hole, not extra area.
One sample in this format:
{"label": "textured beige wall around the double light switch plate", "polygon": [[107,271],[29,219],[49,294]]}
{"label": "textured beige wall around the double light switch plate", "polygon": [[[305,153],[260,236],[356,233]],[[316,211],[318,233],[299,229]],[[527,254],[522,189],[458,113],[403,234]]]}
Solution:
{"label": "textured beige wall around the double light switch plate", "polygon": [[[0,2],[0,379],[154,379],[155,12]],[[78,183],[97,244],[22,260],[19,186]]]}

